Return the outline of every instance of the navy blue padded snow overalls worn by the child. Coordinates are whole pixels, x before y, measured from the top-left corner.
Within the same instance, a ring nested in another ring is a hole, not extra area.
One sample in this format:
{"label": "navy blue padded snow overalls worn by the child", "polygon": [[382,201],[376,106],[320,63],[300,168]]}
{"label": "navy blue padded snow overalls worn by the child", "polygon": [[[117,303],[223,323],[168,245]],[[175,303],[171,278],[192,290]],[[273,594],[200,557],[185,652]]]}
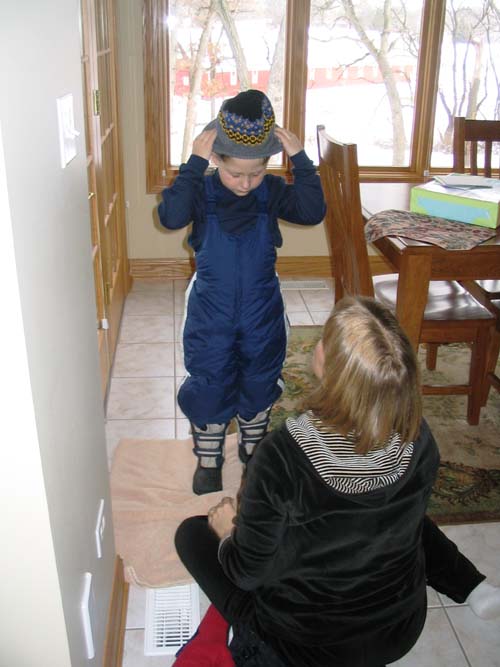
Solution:
{"label": "navy blue padded snow overalls worn by the child", "polygon": [[205,177],[206,229],[196,253],[183,332],[189,373],[177,400],[198,427],[252,419],[280,396],[286,355],[283,299],[263,181],[254,190],[257,221],[224,232],[211,176]]}

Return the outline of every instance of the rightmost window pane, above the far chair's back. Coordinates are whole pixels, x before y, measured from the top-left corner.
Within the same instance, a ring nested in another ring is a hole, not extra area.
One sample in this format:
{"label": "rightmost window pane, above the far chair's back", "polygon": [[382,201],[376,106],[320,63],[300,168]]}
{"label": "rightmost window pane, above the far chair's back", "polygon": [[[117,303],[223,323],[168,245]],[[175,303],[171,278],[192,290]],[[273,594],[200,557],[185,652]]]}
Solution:
{"label": "rightmost window pane, above the far chair's back", "polygon": [[433,167],[453,163],[453,117],[500,119],[500,14],[489,0],[446,3]]}

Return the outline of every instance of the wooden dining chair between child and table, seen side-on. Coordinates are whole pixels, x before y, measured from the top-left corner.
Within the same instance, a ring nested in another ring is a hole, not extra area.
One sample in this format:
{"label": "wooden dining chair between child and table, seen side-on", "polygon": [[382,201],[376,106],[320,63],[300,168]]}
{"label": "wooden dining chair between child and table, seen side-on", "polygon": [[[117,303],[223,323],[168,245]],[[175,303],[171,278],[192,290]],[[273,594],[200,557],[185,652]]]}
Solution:
{"label": "wooden dining chair between child and table, seen side-on", "polygon": [[[335,301],[344,295],[379,299],[395,311],[397,274],[370,273],[359,192],[356,144],[333,140],[317,127],[320,178],[327,212],[326,235],[334,267]],[[469,380],[464,385],[424,385],[424,394],[467,394],[467,420],[479,422],[492,315],[455,281],[433,281],[420,333],[421,343],[471,344]]]}

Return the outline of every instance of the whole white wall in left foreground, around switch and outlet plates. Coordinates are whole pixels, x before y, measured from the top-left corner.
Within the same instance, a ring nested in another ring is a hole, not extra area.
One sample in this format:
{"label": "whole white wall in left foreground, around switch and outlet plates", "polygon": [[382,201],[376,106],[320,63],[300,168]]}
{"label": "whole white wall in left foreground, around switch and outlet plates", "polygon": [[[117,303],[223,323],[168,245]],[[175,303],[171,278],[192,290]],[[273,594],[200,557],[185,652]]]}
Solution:
{"label": "whole white wall in left foreground, around switch and outlet plates", "polygon": [[[101,665],[114,544],[83,137],[78,0],[0,7],[0,664]],[[59,162],[56,98],[72,93],[78,155]],[[4,372],[9,363],[10,373]],[[99,499],[107,508],[96,557]],[[93,573],[96,656],[79,602]]]}

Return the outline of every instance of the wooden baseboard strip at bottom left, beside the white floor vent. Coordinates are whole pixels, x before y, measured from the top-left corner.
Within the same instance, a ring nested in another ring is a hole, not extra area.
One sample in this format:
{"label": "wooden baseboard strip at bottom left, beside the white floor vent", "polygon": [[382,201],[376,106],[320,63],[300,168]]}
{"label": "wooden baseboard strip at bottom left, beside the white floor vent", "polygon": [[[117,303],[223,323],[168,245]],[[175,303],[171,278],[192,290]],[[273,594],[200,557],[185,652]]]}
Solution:
{"label": "wooden baseboard strip at bottom left, beside the white floor vent", "polygon": [[103,667],[122,667],[127,622],[129,585],[123,575],[123,561],[117,556],[108,610]]}

